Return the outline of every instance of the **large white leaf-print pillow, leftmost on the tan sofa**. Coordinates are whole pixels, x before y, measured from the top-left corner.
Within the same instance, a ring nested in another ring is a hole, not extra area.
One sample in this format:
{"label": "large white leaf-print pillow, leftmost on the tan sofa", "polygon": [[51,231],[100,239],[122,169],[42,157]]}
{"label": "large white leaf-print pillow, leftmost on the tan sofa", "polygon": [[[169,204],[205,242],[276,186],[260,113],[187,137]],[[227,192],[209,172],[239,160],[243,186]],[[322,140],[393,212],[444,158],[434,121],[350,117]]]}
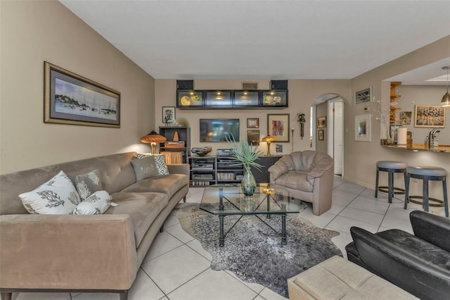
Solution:
{"label": "large white leaf-print pillow, leftmost on the tan sofa", "polygon": [[79,204],[79,195],[63,171],[31,192],[19,195],[29,213],[68,215]]}

